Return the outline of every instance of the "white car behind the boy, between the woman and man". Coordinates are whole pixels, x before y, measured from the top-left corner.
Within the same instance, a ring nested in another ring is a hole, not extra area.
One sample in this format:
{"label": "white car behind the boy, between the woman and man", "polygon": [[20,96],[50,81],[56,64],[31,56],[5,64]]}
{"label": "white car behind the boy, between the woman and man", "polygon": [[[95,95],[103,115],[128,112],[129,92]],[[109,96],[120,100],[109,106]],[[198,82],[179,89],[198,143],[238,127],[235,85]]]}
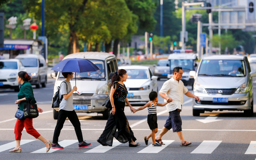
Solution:
{"label": "white car behind the boy, between the woman and man", "polygon": [[158,92],[157,76],[154,76],[150,67],[141,65],[120,66],[127,72],[124,82],[128,90],[129,102],[148,102],[151,91]]}

